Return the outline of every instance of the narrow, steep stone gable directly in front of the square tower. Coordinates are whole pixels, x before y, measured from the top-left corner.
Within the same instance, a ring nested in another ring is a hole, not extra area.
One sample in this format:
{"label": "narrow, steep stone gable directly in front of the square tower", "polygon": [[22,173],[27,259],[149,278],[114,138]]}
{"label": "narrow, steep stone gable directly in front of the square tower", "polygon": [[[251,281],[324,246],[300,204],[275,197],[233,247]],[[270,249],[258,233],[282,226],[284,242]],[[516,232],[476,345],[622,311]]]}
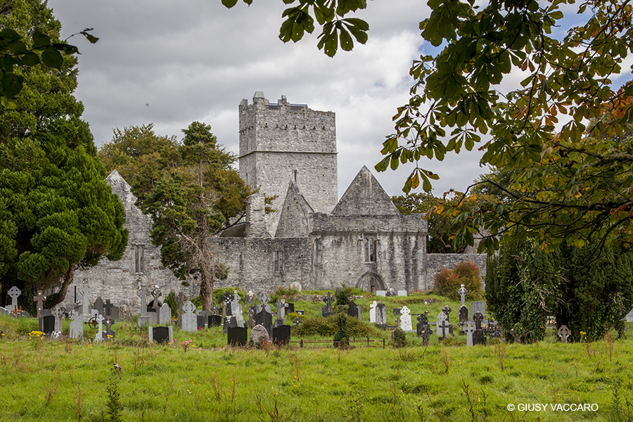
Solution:
{"label": "narrow, steep stone gable directly in front of the square tower", "polygon": [[279,214],[275,238],[300,238],[309,234],[309,217],[314,210],[303,197],[299,185],[291,181]]}

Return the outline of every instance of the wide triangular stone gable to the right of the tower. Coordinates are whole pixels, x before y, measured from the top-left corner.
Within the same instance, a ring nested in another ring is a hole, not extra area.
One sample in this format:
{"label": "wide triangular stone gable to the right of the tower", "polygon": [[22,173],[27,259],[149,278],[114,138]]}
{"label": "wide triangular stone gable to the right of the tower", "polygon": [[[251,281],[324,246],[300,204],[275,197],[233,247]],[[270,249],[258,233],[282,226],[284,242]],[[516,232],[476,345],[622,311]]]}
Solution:
{"label": "wide triangular stone gable to the right of the tower", "polygon": [[401,215],[383,186],[365,166],[343,193],[332,215]]}

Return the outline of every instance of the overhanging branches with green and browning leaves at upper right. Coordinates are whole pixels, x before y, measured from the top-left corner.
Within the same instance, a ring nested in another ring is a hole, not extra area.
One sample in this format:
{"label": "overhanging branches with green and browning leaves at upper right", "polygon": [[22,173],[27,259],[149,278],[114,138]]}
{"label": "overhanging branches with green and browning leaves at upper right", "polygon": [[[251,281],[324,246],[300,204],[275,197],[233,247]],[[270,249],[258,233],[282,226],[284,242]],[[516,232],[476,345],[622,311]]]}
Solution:
{"label": "overhanging branches with green and browning leaves at upper right", "polygon": [[[633,84],[614,89],[610,78],[633,51],[632,1],[582,1],[573,9],[573,0],[430,0],[421,36],[438,52],[412,64],[411,97],[397,109],[395,134],[383,143],[376,170],[412,163],[405,193],[420,185],[428,192],[438,176],[421,167],[421,158],[443,160],[479,143],[482,165],[513,170],[506,192],[512,200],[473,204],[460,217],[456,243],[473,245],[480,228],[490,231],[480,243],[489,252],[499,248],[499,237],[527,236],[525,228],[544,248],[630,243]],[[283,41],[313,32],[315,20],[319,49],[328,56],[339,45],[352,49],[352,37],[366,41],[369,25],[347,18],[368,7],[365,0],[284,3],[291,6],[283,12]],[[569,26],[563,10],[584,22],[556,39],[554,27]],[[516,75],[520,87],[502,90]],[[456,196],[461,204],[468,191]]]}

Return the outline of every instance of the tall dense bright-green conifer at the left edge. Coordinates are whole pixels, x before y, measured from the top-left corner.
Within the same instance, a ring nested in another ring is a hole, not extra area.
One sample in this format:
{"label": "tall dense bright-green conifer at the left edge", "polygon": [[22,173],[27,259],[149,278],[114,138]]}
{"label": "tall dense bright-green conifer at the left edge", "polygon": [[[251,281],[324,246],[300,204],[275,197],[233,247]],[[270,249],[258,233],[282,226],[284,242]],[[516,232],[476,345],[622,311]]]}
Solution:
{"label": "tall dense bright-green conifer at the left edge", "polygon": [[[57,42],[60,25],[40,1],[4,6],[0,27],[22,37],[37,30]],[[48,306],[65,298],[75,268],[117,260],[127,245],[123,206],[104,181],[82,104],[72,95],[77,59],[62,59],[58,69],[46,60],[20,69],[20,94],[9,108],[0,106],[2,288],[60,287]]]}

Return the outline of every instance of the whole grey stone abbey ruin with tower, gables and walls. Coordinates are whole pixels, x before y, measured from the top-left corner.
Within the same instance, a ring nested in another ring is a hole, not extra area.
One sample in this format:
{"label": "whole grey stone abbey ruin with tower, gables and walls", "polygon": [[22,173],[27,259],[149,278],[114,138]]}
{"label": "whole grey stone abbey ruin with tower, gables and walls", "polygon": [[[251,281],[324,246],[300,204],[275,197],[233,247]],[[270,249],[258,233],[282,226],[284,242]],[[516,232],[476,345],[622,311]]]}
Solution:
{"label": "whole grey stone abbey ruin with tower, gables and walls", "polygon": [[[429,290],[442,268],[463,261],[475,262],[485,275],[485,255],[428,254],[423,215],[402,215],[364,165],[338,199],[334,113],[288,103],[285,96],[269,103],[258,91],[252,103],[241,102],[239,117],[240,176],[260,193],[249,198],[245,221],[211,239],[229,267],[217,287]],[[197,295],[195,278],[182,283],[160,264],[149,238],[151,220],[134,205],[127,182],[116,170],[107,181],[127,213],[127,251],[120,261],[77,271],[75,285],[86,280],[91,300],[101,296],[129,307],[139,306],[141,281],[165,294]],[[264,212],[263,193],[276,196],[276,212]]]}

